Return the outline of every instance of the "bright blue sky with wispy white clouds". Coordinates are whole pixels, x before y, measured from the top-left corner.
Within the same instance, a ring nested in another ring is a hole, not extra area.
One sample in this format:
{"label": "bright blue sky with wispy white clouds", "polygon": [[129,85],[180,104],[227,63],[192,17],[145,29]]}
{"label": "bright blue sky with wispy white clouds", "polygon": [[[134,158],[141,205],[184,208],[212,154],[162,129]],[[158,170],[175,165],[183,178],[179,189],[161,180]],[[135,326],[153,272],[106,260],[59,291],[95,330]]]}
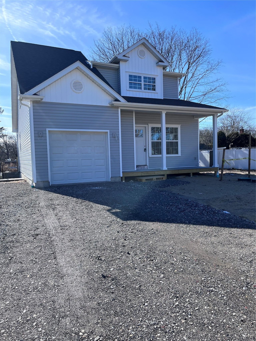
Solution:
{"label": "bright blue sky with wispy white clouds", "polygon": [[[1,1],[0,126],[11,131],[10,41],[80,50],[88,58],[94,39],[108,26],[148,21],[162,28],[197,28],[222,59],[229,104],[255,117],[255,1]],[[204,120],[201,125],[208,125]]]}

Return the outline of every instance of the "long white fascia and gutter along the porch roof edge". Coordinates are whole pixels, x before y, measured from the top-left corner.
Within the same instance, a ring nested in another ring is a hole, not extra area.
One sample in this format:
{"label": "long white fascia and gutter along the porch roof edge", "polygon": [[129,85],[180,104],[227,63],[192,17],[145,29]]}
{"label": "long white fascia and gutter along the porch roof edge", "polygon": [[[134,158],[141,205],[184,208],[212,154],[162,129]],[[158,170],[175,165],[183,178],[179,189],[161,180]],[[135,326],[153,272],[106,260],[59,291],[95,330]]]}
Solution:
{"label": "long white fascia and gutter along the porch roof edge", "polygon": [[180,112],[180,113],[186,113],[186,114],[198,114],[198,112],[203,112],[205,117],[207,115],[215,115],[220,114],[222,112],[227,112],[228,110],[222,110],[222,109],[211,109],[211,108],[197,108],[197,107],[184,107],[184,106],[176,106],[176,105],[160,105],[160,104],[145,104],[145,103],[120,103],[120,102],[110,102],[110,106],[114,107],[120,107],[122,109],[126,108],[132,108],[143,110],[156,110],[156,111],[166,111],[166,112]]}

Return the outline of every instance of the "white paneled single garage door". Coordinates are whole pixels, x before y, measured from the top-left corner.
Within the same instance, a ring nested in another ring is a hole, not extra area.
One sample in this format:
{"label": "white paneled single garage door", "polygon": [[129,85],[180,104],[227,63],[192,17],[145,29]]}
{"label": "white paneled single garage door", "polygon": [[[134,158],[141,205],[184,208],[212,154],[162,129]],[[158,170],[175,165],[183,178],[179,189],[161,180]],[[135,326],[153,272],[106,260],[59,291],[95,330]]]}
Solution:
{"label": "white paneled single garage door", "polygon": [[109,181],[106,132],[49,131],[51,184]]}

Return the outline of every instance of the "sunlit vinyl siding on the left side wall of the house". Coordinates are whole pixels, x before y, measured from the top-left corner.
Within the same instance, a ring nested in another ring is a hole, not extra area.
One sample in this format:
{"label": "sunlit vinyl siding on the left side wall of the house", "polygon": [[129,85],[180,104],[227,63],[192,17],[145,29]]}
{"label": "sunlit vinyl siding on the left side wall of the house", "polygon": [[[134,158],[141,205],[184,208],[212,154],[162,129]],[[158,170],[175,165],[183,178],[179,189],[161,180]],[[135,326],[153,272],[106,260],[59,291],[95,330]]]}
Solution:
{"label": "sunlit vinyl siding on the left side wall of the house", "polygon": [[[29,102],[24,102],[29,104]],[[17,102],[17,141],[20,172],[32,180],[29,108]]]}

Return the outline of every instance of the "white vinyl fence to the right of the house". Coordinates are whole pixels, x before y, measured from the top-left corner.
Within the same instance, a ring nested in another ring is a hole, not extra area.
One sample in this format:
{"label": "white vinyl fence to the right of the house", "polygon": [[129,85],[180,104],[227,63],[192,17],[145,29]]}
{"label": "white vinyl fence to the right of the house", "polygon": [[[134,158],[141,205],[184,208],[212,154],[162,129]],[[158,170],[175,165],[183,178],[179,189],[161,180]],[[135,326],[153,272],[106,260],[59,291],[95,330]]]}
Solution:
{"label": "white vinyl fence to the right of the house", "polygon": [[[228,149],[225,151],[225,160],[248,158],[248,149]],[[222,165],[223,149],[218,148],[218,165]],[[251,159],[256,160],[256,149],[251,149]],[[256,162],[251,160],[251,169],[256,169]],[[199,152],[199,166],[210,167],[210,150]],[[224,169],[248,169],[248,159],[230,160],[224,163]]]}

